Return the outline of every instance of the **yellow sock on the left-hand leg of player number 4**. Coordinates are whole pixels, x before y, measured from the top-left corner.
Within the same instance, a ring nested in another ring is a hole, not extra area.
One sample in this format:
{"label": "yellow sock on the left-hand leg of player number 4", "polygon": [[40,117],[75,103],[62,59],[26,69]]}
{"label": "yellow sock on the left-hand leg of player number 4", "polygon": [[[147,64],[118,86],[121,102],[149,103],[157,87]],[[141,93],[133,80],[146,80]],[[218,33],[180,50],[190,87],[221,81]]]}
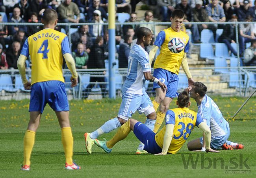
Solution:
{"label": "yellow sock on the left-hand leg of player number 4", "polygon": [[35,132],[26,130],[24,136],[23,166],[30,165],[30,156],[35,143]]}

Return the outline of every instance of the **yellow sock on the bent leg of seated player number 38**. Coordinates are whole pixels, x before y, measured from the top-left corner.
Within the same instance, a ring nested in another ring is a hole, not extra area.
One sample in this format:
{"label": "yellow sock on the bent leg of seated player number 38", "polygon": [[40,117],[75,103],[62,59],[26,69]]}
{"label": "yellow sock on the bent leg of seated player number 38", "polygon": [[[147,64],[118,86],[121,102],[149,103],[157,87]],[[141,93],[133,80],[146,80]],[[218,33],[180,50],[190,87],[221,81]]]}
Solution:
{"label": "yellow sock on the bent leg of seated player number 38", "polygon": [[115,145],[115,143],[123,140],[124,138],[126,138],[126,136],[130,133],[132,129],[130,128],[130,120],[128,120],[126,123],[124,123],[117,131],[117,133],[115,133],[115,135],[113,136],[113,138],[111,138],[111,140],[109,140],[107,142],[107,147],[108,148],[113,148],[113,146]]}

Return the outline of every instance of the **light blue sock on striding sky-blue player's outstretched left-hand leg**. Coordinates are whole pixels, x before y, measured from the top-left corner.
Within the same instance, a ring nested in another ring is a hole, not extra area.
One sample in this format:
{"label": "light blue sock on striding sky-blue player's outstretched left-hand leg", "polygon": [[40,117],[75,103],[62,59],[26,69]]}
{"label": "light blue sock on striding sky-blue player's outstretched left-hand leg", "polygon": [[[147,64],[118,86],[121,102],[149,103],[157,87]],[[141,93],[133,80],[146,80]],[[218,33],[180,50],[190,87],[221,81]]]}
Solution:
{"label": "light blue sock on striding sky-blue player's outstretched left-hand leg", "polygon": [[[101,134],[109,133],[110,131],[113,131],[114,129],[116,129],[117,127],[120,127],[120,126],[121,126],[121,124],[117,117],[110,119],[107,122],[105,122],[100,128],[98,128],[96,131],[92,132],[90,134],[90,138],[91,139],[98,138],[98,136],[100,136]],[[154,126],[153,126],[153,128],[154,128]]]}

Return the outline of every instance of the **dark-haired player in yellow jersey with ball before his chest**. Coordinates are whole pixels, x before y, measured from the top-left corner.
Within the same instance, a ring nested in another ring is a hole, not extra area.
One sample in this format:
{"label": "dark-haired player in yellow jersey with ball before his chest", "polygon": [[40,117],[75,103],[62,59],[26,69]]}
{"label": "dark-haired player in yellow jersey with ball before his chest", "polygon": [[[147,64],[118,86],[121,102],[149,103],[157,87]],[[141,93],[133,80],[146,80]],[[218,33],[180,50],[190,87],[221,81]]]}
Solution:
{"label": "dark-haired player in yellow jersey with ball before his chest", "polygon": [[[183,11],[180,9],[175,9],[171,14],[171,27],[160,31],[156,41],[154,42],[153,49],[149,53],[149,60],[151,64],[156,51],[160,48],[160,54],[157,56],[154,63],[154,76],[167,85],[166,93],[163,93],[155,84],[153,85],[153,90],[156,91],[156,97],[152,103],[157,114],[156,124],[154,127],[155,133],[160,128],[171,101],[177,95],[176,91],[178,87],[180,65],[182,65],[182,68],[188,78],[189,85],[191,86],[194,82],[187,63],[189,36],[180,30],[183,20]],[[185,44],[184,50],[180,53],[172,53],[168,48],[169,42],[175,37],[183,40]],[[142,148],[139,147],[138,149]]]}

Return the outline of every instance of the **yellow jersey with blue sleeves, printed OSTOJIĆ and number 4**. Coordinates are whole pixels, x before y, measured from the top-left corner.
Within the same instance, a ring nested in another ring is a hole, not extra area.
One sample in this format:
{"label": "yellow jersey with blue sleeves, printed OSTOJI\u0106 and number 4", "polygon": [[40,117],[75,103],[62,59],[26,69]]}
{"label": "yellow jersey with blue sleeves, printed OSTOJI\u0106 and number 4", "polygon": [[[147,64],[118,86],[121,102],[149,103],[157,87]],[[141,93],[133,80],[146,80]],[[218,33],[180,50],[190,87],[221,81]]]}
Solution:
{"label": "yellow jersey with blue sleeves, printed OSTOJI\u0106 and number 4", "polygon": [[31,84],[48,80],[64,82],[62,55],[70,53],[67,35],[54,29],[43,29],[29,36],[20,52],[30,55],[32,62]]}

